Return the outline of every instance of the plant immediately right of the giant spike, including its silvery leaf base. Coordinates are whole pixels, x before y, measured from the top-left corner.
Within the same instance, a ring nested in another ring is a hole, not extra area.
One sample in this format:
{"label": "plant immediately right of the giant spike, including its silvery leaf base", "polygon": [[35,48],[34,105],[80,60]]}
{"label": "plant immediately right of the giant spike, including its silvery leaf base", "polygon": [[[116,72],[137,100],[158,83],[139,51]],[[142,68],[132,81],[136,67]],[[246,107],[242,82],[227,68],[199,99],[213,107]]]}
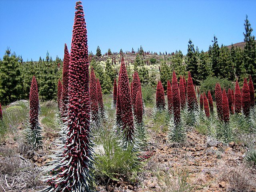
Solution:
{"label": "plant immediately right of the giant spike, including its silvery leaf base", "polygon": [[90,106],[91,106],[91,127],[94,131],[98,131],[100,126],[99,106],[98,106],[98,93],[97,93],[97,81],[94,74],[93,67],[91,66],[90,74]]}

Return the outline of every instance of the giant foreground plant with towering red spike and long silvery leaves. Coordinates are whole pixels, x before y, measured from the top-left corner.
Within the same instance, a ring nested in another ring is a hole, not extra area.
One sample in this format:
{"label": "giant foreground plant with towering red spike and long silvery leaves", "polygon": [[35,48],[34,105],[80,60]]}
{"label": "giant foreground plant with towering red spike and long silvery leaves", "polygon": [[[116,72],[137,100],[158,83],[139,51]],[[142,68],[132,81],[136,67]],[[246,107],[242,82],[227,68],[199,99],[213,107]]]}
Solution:
{"label": "giant foreground plant with towering red spike and long silvery leaves", "polygon": [[[50,163],[47,192],[89,192],[93,182],[90,144],[90,95],[87,30],[81,2],[76,2],[69,66],[67,140]],[[46,178],[46,179],[47,179]]]}

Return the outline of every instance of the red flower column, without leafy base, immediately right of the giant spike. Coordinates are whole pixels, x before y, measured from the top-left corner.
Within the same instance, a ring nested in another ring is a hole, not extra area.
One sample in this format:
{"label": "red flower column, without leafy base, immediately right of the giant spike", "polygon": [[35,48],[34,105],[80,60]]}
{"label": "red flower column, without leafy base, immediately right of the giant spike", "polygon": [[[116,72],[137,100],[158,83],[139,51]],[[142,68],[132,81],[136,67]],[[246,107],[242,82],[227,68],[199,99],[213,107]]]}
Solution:
{"label": "red flower column, without leafy base, immediately right of the giant spike", "polygon": [[94,74],[93,67],[91,66],[91,74],[90,74],[90,105],[91,105],[91,122],[97,120],[97,116],[99,115],[99,107],[98,107],[98,94],[97,94],[97,81]]}

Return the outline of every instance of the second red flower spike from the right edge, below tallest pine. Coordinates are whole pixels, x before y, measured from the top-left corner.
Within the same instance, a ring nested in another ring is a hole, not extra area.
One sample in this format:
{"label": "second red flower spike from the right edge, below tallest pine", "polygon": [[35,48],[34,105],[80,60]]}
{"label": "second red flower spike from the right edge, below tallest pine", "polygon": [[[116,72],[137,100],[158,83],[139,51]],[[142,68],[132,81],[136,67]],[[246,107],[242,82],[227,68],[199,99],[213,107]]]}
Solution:
{"label": "second red flower spike from the right edge, below tallest pine", "polygon": [[242,88],[242,109],[245,116],[250,114],[250,91],[246,78],[244,78],[244,85]]}

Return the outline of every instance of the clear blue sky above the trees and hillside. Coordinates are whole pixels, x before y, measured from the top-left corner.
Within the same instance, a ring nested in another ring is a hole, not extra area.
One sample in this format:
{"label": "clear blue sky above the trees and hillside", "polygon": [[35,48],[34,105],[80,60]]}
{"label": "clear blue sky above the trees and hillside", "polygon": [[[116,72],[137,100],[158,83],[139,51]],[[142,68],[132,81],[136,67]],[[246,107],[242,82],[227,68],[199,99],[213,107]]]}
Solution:
{"label": "clear blue sky above the trees and hillside", "polygon": [[[75,0],[0,0],[0,58],[10,47],[24,61],[63,59],[70,50]],[[82,0],[89,51],[137,50],[187,53],[191,39],[208,50],[244,40],[246,14],[256,36],[256,0]]]}

